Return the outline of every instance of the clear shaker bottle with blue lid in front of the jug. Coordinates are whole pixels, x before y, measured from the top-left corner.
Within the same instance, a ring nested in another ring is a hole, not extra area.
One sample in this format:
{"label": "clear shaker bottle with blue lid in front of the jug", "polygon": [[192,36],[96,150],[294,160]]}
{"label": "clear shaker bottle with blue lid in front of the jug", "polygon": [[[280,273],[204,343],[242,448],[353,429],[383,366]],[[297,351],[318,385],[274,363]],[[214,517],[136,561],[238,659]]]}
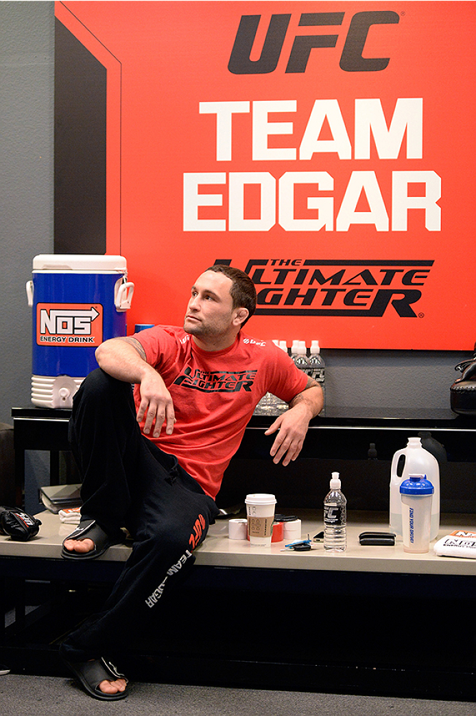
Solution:
{"label": "clear shaker bottle with blue lid in front of the jug", "polygon": [[409,479],[400,485],[405,552],[429,552],[433,493],[433,485],[426,475],[409,475]]}

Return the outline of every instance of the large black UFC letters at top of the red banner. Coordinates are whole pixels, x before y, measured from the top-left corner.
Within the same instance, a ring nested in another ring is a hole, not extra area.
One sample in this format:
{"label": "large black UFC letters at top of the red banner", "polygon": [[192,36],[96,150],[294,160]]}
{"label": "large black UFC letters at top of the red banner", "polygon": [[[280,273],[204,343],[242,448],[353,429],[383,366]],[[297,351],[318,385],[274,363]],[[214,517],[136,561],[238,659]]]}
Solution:
{"label": "large black UFC letters at top of the red banner", "polygon": [[[291,14],[272,15],[261,57],[251,60],[250,54],[261,15],[241,16],[235,44],[228,62],[233,74],[268,74],[274,72],[281,55]],[[300,27],[338,26],[344,12],[305,12]],[[397,24],[399,16],[390,10],[357,12],[351,19],[339,66],[344,72],[381,72],[389,57],[362,57],[367,34],[372,25]],[[305,72],[312,49],[336,47],[338,34],[296,35],[289,54],[286,72]]]}

